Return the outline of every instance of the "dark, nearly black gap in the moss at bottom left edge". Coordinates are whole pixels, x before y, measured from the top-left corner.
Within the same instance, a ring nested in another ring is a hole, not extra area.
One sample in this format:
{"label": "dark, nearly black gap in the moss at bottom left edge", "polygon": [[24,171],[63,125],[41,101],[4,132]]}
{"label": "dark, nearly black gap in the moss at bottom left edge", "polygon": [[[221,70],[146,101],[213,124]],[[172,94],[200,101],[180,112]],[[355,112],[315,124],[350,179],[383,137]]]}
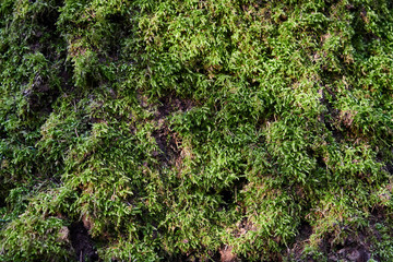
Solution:
{"label": "dark, nearly black gap in the moss at bottom left edge", "polygon": [[75,258],[80,262],[98,261],[98,254],[94,248],[93,240],[82,223],[73,223],[70,227],[72,248],[75,250]]}

